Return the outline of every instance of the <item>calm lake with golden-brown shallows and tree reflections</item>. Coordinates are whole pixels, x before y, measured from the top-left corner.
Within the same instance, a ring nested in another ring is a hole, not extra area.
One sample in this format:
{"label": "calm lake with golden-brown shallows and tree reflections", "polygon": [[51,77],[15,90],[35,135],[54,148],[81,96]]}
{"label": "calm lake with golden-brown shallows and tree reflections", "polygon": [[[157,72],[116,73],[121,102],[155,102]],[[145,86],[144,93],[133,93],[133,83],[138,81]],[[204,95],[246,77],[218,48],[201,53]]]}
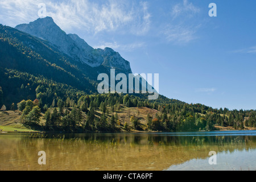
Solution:
{"label": "calm lake with golden-brown shallows and tree reflections", "polygon": [[[46,152],[46,165],[38,152]],[[209,164],[216,151],[217,164]],[[0,170],[256,170],[256,131],[0,134]]]}

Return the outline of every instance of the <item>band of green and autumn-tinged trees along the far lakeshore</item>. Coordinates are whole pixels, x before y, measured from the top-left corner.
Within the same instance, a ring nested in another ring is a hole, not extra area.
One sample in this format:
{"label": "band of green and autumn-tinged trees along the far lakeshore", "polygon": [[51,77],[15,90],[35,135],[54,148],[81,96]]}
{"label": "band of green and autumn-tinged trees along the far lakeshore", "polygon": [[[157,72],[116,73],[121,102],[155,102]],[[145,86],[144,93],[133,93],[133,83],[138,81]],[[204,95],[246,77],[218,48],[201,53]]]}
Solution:
{"label": "band of green and autumn-tinged trees along the far lakeshore", "polygon": [[[140,97],[123,94],[93,94],[81,96],[77,101],[53,99],[51,104],[23,100],[18,103],[24,125],[35,126],[44,113],[43,130],[65,132],[142,130],[140,117],[130,116],[130,125],[121,123],[118,112],[122,107],[148,107],[158,110],[147,114],[147,131],[212,131],[214,125],[232,126],[234,129],[255,127],[254,110],[212,109],[200,104],[159,104]],[[138,114],[139,115],[139,114]]]}

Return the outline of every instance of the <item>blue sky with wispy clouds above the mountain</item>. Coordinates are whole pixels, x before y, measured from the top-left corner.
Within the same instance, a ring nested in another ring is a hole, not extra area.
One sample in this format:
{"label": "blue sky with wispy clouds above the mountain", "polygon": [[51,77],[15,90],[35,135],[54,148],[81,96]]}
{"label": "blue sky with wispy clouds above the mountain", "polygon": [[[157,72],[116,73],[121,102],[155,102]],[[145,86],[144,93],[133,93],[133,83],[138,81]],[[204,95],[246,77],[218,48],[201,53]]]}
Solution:
{"label": "blue sky with wispy clouds above the mountain", "polygon": [[[111,47],[159,92],[214,108],[256,109],[256,1],[1,0],[0,23],[38,19],[39,3],[67,34]],[[210,17],[210,3],[217,17]]]}

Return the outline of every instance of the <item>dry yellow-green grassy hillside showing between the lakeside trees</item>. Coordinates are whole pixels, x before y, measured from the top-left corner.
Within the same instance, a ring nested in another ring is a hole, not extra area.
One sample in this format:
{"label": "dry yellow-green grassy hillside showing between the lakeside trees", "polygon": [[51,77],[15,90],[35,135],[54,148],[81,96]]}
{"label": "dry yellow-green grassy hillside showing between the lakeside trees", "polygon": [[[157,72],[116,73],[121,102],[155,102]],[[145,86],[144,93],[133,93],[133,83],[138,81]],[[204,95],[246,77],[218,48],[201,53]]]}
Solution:
{"label": "dry yellow-green grassy hillside showing between the lakeside trees", "polygon": [[[64,110],[72,110],[72,108],[64,108]],[[53,109],[51,109],[53,111]],[[120,111],[116,112],[118,114],[119,123],[117,126],[117,131],[121,132],[142,132],[142,131],[148,131],[147,129],[147,115],[150,114],[152,116],[155,116],[156,114],[159,114],[159,111],[155,109],[149,109],[147,107],[122,107]],[[101,117],[103,113],[101,111],[96,111],[96,115],[98,118]],[[31,132],[37,132],[36,130],[32,130],[29,127],[25,127],[20,117],[22,115],[22,112],[19,110],[14,111],[0,111],[0,130],[2,129],[3,132],[25,132],[25,133],[31,133]],[[109,114],[109,117],[111,114]],[[131,117],[137,117],[139,118],[139,126],[140,130],[135,129],[133,127],[133,123],[130,122]],[[82,113],[82,117],[86,118],[86,114]],[[44,126],[46,124],[46,119],[44,118],[44,114],[42,113],[41,116],[41,122],[39,125]],[[125,123],[128,124],[128,130],[124,129]],[[232,126],[220,126],[220,125],[214,125],[214,130],[218,131],[228,131],[228,130],[234,130],[234,127]],[[255,127],[245,127],[245,130],[255,130]]]}

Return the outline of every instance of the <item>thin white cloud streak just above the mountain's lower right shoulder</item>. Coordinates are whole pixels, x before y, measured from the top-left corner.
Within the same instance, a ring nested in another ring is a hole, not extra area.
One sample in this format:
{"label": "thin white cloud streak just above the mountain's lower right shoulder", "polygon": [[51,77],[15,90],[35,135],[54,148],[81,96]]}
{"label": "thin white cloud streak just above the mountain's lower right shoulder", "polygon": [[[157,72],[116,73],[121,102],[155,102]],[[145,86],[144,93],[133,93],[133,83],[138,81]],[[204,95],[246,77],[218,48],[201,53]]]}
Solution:
{"label": "thin white cloud streak just above the mountain's lower right shoulder", "polygon": [[146,44],[143,42],[136,42],[131,44],[118,44],[117,42],[104,42],[99,46],[93,46],[94,48],[101,48],[104,49],[105,47],[110,47],[113,49],[121,50],[121,51],[127,51],[131,52],[134,51],[134,49],[144,47]]}

